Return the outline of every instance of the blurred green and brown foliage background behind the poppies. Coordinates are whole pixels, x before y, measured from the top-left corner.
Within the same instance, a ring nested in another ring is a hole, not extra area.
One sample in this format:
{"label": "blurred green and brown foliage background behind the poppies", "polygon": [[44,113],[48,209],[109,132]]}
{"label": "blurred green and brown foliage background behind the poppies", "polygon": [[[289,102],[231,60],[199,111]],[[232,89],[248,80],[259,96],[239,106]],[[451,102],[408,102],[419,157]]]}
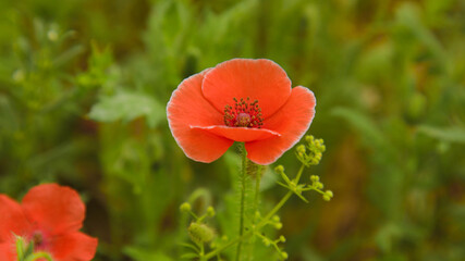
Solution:
{"label": "blurred green and brown foliage background behind the poppies", "polygon": [[[276,61],[317,97],[308,134],[327,152],[306,173],[334,198],[281,211],[290,260],[465,260],[462,0],[1,1],[0,192],[72,186],[95,260],[180,260],[179,206],[196,189],[220,233],[237,217],[238,159],[188,160],[166,104],[238,57]],[[277,163],[298,167],[292,151]],[[285,192],[271,169],[265,204]]]}

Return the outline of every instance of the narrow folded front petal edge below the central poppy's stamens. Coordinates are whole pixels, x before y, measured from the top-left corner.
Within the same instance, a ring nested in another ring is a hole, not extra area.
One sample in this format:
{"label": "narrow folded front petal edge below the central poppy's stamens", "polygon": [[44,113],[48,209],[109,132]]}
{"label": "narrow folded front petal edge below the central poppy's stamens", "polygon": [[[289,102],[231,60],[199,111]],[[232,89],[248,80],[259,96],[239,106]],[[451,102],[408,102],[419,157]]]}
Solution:
{"label": "narrow folded front petal edge below the central poppy's stamens", "polygon": [[266,128],[228,127],[228,126],[192,126],[192,128],[205,129],[211,134],[235,141],[253,141],[280,136],[279,133]]}

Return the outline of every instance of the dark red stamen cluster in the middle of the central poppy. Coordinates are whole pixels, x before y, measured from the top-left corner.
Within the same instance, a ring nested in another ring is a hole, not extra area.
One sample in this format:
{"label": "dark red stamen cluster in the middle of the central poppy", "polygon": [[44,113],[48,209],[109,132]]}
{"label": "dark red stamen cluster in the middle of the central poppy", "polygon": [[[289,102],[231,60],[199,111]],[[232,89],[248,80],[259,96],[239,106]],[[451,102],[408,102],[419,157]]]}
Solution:
{"label": "dark red stamen cluster in the middle of the central poppy", "polygon": [[234,100],[234,108],[232,105],[224,107],[224,124],[230,127],[256,127],[260,128],[264,125],[261,117],[261,109],[258,107],[258,100],[249,102],[249,98],[244,100],[241,98]]}

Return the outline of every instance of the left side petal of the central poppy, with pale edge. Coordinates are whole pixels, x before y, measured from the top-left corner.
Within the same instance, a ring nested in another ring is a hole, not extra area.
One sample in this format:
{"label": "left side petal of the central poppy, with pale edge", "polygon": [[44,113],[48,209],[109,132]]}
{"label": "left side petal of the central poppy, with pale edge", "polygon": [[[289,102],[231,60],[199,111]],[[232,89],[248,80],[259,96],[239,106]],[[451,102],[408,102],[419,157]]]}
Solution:
{"label": "left side petal of the central poppy, with pale edge", "polygon": [[201,82],[208,70],[184,79],[173,91],[167,105],[168,123],[178,145],[184,153],[200,162],[220,158],[232,140],[213,135],[191,125],[210,126],[223,123],[223,115],[201,94]]}

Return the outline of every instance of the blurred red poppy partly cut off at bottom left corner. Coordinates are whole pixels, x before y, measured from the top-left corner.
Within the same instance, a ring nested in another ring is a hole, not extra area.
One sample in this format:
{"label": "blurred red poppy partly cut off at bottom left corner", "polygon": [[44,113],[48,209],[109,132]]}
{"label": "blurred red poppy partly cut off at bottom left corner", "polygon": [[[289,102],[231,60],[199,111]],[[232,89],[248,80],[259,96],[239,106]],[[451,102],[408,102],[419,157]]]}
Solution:
{"label": "blurred red poppy partly cut off at bottom left corner", "polygon": [[76,191],[57,184],[32,188],[19,204],[0,195],[0,260],[15,261],[15,235],[34,240],[35,251],[47,251],[56,261],[88,261],[97,239],[78,229],[85,206]]}

